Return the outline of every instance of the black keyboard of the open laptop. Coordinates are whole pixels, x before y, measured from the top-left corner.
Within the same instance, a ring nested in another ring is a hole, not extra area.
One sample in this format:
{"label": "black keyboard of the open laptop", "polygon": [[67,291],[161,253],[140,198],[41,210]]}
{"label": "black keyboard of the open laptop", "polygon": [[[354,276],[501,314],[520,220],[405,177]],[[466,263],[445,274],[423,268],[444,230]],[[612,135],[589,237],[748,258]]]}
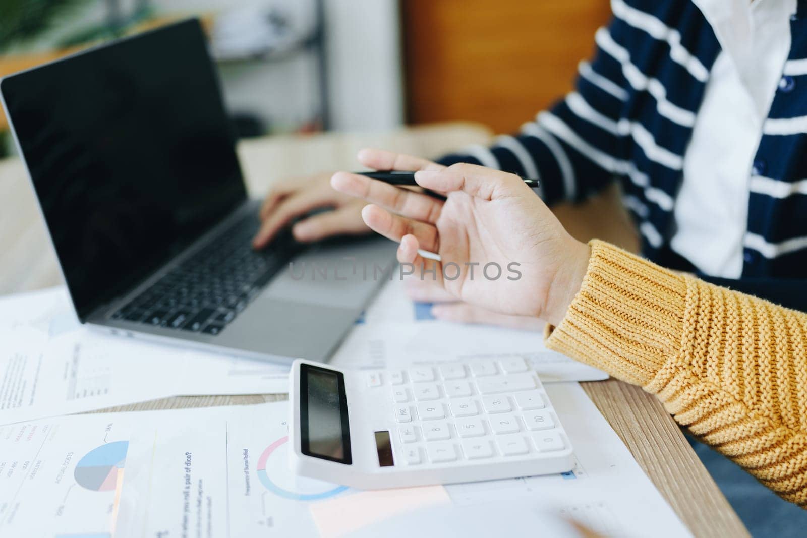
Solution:
{"label": "black keyboard of the open laptop", "polygon": [[116,311],[112,319],[218,335],[299,250],[291,235],[256,252],[255,215],[235,223]]}

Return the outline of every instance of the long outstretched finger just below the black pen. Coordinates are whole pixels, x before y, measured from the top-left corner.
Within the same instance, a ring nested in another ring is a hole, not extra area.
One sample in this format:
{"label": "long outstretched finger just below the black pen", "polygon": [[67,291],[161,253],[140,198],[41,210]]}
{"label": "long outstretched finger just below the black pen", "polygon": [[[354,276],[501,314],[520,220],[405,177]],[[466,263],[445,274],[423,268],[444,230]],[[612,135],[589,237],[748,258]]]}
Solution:
{"label": "long outstretched finger just below the black pen", "polygon": [[376,181],[354,173],[333,174],[331,186],[341,193],[364,198],[389,211],[424,223],[436,223],[443,208],[441,200],[413,190],[399,189],[383,181]]}

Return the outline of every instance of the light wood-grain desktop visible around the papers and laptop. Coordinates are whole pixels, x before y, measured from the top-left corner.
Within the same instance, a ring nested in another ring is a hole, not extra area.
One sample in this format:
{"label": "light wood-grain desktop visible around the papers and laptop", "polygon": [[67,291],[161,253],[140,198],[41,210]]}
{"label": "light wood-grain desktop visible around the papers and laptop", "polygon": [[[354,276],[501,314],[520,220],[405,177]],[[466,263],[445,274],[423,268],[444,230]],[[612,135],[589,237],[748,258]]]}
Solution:
{"label": "light wood-grain desktop visible around the papers and laptop", "polygon": [[[353,169],[353,156],[366,145],[433,156],[488,140],[490,133],[483,128],[451,124],[378,135],[252,140],[240,144],[239,153],[249,189],[259,195],[281,177]],[[618,207],[606,197],[587,206],[561,208],[558,216],[581,240],[596,233],[602,239],[635,248],[635,238]],[[602,215],[612,216],[603,221]],[[23,166],[15,159],[0,161],[0,294],[36,290],[59,282],[56,259]],[[658,400],[638,387],[615,380],[583,383],[583,388],[695,536],[749,536]],[[248,404],[285,398],[284,395],[176,397],[106,411]]]}

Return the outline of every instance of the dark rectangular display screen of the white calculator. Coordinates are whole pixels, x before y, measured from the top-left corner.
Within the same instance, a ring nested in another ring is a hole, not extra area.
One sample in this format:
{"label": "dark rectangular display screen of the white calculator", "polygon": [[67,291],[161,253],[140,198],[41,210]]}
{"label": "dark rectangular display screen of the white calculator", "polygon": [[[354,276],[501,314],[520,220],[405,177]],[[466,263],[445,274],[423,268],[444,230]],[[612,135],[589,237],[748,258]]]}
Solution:
{"label": "dark rectangular display screen of the white calculator", "polygon": [[351,464],[345,376],[300,365],[300,441],[303,454]]}

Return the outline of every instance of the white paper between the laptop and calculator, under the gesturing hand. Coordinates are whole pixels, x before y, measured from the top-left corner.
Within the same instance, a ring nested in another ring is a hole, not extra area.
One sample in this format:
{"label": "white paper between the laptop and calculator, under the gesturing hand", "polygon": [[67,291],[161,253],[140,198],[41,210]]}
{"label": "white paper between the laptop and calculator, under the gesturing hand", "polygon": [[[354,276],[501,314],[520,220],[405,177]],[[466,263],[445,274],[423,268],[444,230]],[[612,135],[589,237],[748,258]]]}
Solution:
{"label": "white paper between the laptop and calculator, under the gesturing hand", "polygon": [[412,364],[524,357],[545,383],[596,381],[608,374],[544,346],[541,332],[466,325],[434,319],[432,303],[412,302],[395,278],[358,320],[330,363],[349,369],[394,369]]}

